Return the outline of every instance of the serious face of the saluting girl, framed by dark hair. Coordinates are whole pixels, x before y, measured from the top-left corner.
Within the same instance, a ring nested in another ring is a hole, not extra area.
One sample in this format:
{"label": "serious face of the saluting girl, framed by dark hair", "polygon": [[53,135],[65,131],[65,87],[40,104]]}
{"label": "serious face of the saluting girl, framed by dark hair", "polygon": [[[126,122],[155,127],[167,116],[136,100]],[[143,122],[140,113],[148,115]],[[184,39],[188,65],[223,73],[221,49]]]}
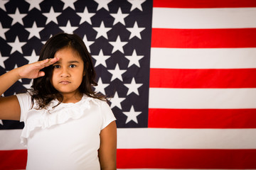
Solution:
{"label": "serious face of the saluting girl, framed by dark hair", "polygon": [[84,62],[77,52],[70,47],[58,50],[54,57],[60,60],[53,64],[53,77],[51,82],[56,90],[65,95],[80,95],[78,87],[85,75]]}

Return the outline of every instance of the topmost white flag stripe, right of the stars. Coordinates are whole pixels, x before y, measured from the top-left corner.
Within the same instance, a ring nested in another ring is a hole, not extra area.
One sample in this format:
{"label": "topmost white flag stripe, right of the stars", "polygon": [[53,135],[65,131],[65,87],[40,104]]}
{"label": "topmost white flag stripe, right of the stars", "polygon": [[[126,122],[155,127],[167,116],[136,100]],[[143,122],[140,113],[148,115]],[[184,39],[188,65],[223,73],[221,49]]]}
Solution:
{"label": "topmost white flag stripe, right of the stars", "polygon": [[256,8],[153,8],[153,28],[255,28]]}

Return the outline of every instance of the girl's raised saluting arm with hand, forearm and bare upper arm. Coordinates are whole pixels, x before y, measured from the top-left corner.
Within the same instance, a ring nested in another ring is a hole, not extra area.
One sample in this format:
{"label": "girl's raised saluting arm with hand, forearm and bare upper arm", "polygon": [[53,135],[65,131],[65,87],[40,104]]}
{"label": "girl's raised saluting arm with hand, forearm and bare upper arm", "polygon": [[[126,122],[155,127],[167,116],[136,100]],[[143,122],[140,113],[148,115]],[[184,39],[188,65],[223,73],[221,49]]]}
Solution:
{"label": "girl's raised saluting arm with hand, forearm and bare upper arm", "polygon": [[[54,58],[50,60],[43,60],[40,62],[34,62],[33,64],[26,64],[23,67],[16,69],[1,75],[0,77],[0,95],[9,89],[18,79],[36,79],[44,76],[44,72],[40,70],[44,67],[48,67],[50,64],[57,62],[59,59]],[[21,108],[16,96],[0,97],[0,120],[20,120]]]}

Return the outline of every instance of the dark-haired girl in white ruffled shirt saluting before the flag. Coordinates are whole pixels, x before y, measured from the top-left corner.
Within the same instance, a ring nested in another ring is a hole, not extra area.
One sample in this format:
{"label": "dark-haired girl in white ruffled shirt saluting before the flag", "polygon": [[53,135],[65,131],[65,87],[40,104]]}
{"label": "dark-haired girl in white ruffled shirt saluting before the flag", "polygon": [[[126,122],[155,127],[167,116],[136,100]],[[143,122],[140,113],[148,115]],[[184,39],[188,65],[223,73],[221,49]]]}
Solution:
{"label": "dark-haired girl in white ruffled shirt saluting before the flag", "polygon": [[78,35],[60,33],[39,61],[0,77],[0,93],[33,79],[26,94],[0,98],[0,120],[20,120],[26,169],[116,169],[117,128],[105,98],[92,91],[95,69]]}

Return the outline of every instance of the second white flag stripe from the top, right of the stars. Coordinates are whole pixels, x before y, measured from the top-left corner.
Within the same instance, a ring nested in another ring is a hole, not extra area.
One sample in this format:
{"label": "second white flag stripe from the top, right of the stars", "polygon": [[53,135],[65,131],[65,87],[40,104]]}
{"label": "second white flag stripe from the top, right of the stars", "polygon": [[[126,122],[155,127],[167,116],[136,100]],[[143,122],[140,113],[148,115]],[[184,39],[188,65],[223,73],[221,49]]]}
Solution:
{"label": "second white flag stripe from the top, right of the stars", "polygon": [[150,67],[166,69],[256,68],[256,48],[151,48]]}

